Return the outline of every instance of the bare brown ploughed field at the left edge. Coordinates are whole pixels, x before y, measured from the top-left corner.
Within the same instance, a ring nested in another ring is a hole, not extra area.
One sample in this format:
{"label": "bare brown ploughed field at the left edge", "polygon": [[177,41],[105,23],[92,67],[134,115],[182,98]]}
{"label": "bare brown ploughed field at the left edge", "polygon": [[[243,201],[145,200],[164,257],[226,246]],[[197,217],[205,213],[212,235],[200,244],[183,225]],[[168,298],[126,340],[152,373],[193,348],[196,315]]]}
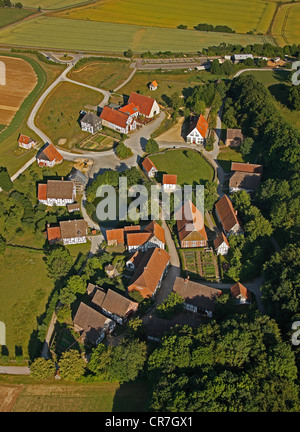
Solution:
{"label": "bare brown ploughed field at the left edge", "polygon": [[34,89],[37,76],[26,61],[2,57],[6,67],[6,85],[0,85],[0,124],[9,125],[24,99]]}

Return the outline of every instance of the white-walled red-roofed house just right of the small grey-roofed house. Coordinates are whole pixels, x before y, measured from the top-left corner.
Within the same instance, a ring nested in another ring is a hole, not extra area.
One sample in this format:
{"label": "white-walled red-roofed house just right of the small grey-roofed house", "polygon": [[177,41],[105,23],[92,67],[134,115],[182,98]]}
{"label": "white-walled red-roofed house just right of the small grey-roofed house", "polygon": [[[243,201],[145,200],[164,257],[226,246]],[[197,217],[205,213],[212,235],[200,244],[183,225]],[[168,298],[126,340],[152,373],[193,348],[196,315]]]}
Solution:
{"label": "white-walled red-roofed house just right of the small grey-roofed house", "polygon": [[117,132],[127,134],[136,129],[136,121],[132,116],[122,111],[105,106],[100,115],[102,126],[106,126]]}

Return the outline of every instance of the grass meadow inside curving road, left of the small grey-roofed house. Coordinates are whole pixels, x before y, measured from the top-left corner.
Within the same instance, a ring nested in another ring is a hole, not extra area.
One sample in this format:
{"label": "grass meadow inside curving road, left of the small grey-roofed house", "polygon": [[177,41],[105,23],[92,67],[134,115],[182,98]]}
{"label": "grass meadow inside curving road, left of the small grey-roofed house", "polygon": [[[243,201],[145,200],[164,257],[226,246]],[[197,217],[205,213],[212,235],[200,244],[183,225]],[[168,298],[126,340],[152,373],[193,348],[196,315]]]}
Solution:
{"label": "grass meadow inside curving road, left of the small grey-roofed house", "polygon": [[41,106],[36,125],[49,136],[54,144],[66,140],[62,145],[72,148],[88,136],[88,132],[80,129],[79,113],[85,105],[98,105],[103,99],[102,94],[86,87],[71,83],[60,83],[49,94]]}

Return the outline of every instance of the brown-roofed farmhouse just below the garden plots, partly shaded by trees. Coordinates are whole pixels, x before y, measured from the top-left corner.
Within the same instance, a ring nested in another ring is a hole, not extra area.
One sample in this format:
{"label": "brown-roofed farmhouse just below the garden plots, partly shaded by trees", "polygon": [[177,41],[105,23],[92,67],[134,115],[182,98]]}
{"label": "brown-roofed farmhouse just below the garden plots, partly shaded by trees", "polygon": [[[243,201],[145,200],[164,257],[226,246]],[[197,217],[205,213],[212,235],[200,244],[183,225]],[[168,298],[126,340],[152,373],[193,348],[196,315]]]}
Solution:
{"label": "brown-roofed farmhouse just below the garden plots, partly shaded by trees", "polygon": [[173,292],[184,299],[185,309],[194,313],[204,313],[209,318],[215,310],[217,298],[222,294],[218,289],[179,276],[175,279]]}

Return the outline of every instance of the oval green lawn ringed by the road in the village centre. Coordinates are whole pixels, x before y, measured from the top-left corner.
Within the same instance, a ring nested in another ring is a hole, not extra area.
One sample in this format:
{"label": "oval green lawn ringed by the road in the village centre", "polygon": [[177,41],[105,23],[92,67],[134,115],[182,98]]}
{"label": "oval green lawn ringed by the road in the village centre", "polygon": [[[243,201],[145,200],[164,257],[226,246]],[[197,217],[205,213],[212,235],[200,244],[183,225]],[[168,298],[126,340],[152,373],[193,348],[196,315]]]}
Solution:
{"label": "oval green lawn ringed by the road in the village centre", "polygon": [[177,183],[183,186],[201,184],[214,177],[213,167],[197,151],[169,150],[151,155],[150,159],[159,171],[158,181],[162,174],[177,174]]}

